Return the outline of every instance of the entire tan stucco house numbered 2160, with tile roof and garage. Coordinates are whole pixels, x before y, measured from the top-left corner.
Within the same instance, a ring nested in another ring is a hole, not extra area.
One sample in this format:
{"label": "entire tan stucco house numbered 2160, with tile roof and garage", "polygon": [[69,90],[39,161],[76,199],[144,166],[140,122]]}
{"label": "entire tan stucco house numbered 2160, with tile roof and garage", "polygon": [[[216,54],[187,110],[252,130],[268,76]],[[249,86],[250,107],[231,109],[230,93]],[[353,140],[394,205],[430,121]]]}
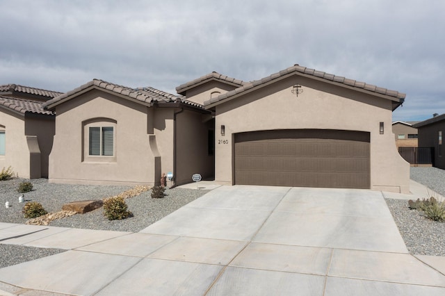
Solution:
{"label": "entire tan stucco house numbered 2160, with tile roof and garage", "polygon": [[212,72],[177,87],[94,79],[44,103],[56,113],[49,181],[218,183],[409,192],[392,111],[405,94],[294,65],[258,81]]}

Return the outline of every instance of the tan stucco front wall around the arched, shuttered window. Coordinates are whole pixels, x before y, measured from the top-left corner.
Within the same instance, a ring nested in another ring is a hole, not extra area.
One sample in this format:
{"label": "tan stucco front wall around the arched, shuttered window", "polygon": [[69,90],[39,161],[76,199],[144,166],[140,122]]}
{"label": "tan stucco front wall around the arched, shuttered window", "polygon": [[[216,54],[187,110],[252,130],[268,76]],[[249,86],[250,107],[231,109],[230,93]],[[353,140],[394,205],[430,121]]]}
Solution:
{"label": "tan stucco front wall around the arched, shuttered window", "polygon": [[[50,182],[128,185],[156,182],[153,147],[157,146],[157,152],[161,153],[165,145],[162,135],[168,135],[171,124],[163,124],[163,120],[156,118],[148,120],[147,113],[151,112],[147,106],[92,90],[60,104],[56,113],[56,135],[49,156]],[[100,157],[97,161],[83,159],[83,122],[96,117],[116,122],[115,161],[103,162]],[[159,133],[161,129],[167,132]],[[151,132],[154,134],[150,135]],[[162,152],[161,158],[163,155]],[[168,163],[165,159],[161,162]]]}

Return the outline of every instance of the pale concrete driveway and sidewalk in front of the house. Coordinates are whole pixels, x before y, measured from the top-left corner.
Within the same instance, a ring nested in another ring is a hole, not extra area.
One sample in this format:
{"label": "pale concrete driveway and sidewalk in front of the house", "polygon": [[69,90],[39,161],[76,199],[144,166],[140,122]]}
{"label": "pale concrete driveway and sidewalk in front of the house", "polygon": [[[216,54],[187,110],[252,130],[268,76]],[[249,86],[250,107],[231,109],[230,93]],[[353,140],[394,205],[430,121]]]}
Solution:
{"label": "pale concrete driveway and sidewalk in front of the house", "polygon": [[220,186],[139,233],[0,223],[68,250],[0,269],[0,295],[445,295],[445,257],[410,255],[383,197]]}

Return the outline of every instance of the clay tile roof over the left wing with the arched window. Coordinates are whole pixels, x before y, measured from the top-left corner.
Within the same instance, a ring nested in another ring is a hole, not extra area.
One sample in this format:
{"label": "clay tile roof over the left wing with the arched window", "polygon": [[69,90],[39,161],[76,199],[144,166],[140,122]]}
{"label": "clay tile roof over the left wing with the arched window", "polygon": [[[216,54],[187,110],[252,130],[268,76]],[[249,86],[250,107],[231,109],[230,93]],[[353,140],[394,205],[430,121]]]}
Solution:
{"label": "clay tile roof over the left wing with the arched window", "polygon": [[58,97],[55,97],[54,99],[44,102],[43,107],[52,108],[54,104],[58,103],[60,104],[63,101],[71,99],[76,94],[80,94],[84,91],[90,90],[90,88],[99,88],[103,90],[108,90],[114,92],[115,94],[122,94],[125,97],[136,99],[138,101],[142,101],[148,104],[155,104],[155,103],[163,104],[163,103],[174,102],[174,103],[187,104],[197,108],[203,108],[202,105],[188,101],[185,97],[181,95],[170,94],[168,92],[163,92],[161,90],[156,90],[155,88],[149,88],[149,87],[128,88],[127,86],[108,83],[100,79],[93,79],[92,81],[79,86],[79,88],[70,90],[70,92],[66,92],[65,94],[60,94]]}

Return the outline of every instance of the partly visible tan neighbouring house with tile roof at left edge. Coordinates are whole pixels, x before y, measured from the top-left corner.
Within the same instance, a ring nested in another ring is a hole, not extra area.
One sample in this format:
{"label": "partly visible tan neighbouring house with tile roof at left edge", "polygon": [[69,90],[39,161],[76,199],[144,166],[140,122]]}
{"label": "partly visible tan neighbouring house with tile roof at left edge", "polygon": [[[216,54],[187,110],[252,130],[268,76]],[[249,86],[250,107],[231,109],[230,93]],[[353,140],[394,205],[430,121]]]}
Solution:
{"label": "partly visible tan neighbouring house with tile roof at left edge", "polygon": [[12,167],[18,176],[48,176],[48,157],[54,136],[54,113],[42,102],[61,92],[0,85],[0,169]]}

